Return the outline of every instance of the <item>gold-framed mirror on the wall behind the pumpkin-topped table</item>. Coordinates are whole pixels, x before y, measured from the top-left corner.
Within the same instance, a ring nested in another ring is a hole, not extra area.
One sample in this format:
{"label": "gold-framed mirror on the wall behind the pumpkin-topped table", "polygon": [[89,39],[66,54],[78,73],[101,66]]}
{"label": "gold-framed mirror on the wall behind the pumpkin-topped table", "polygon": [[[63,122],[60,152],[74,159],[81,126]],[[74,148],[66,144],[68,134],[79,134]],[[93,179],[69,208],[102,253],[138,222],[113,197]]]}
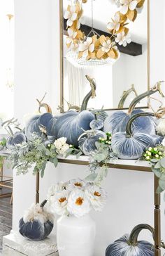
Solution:
{"label": "gold-framed mirror on the wall behind the pumpkin-topped table", "polygon": [[[94,68],[77,68],[66,58],[67,25],[64,19],[68,0],[60,1],[60,106],[61,113],[73,108],[78,110],[83,98],[90,91],[89,75],[96,81],[96,97],[90,99],[87,108],[103,107],[104,110],[127,109],[138,94],[150,88],[150,0],[145,0],[136,20],[129,24],[131,43],[119,46],[120,58],[113,65]],[[73,0],[71,0],[73,1]],[[71,2],[70,1],[70,2]],[[90,27],[99,34],[108,35],[106,23],[118,10],[111,1],[87,0],[83,6],[85,22],[81,30],[87,36]],[[109,7],[108,7],[109,6]],[[118,45],[117,45],[118,46]],[[148,99],[138,103],[138,108],[148,108]]]}

